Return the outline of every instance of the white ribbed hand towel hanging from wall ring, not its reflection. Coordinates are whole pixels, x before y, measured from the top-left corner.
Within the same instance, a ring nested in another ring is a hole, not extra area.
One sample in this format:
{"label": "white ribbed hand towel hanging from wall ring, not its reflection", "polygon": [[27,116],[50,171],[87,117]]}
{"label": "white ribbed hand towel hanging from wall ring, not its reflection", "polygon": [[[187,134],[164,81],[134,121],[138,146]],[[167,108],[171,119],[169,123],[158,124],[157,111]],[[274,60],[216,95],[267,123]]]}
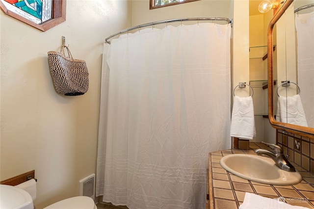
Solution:
{"label": "white ribbed hand towel hanging from wall ring, not its reflection", "polygon": [[235,96],[230,135],[243,139],[253,139],[256,135],[252,97]]}

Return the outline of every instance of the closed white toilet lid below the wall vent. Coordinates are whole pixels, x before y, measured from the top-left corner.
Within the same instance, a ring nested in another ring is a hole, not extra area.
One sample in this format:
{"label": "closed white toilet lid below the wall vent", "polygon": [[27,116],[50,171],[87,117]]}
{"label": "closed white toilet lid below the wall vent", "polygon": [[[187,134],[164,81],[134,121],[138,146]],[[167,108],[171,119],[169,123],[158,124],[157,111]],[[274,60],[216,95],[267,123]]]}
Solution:
{"label": "closed white toilet lid below the wall vent", "polygon": [[94,209],[94,200],[90,197],[78,196],[56,202],[45,209]]}

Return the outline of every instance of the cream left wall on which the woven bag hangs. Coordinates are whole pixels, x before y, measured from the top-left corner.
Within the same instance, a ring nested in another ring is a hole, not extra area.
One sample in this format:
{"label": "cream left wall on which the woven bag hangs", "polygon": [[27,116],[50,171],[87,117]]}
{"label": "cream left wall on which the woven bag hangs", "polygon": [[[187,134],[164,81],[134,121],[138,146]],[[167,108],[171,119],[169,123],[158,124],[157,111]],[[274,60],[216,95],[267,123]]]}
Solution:
{"label": "cream left wall on which the woven bag hangs", "polygon": [[[35,170],[41,209],[78,195],[78,181],[96,171],[103,42],[131,26],[131,1],[67,0],[66,22],[42,32],[2,11],[0,178]],[[47,52],[62,36],[89,70],[85,95],[55,92]]]}

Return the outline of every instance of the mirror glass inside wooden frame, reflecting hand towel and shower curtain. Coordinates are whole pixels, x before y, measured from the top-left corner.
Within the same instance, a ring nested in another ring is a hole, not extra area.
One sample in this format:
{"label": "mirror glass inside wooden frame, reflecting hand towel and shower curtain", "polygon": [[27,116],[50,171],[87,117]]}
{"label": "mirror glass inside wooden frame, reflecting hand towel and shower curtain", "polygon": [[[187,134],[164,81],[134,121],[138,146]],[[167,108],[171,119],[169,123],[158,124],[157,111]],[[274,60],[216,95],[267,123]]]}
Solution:
{"label": "mirror glass inside wooden frame, reflecting hand towel and shower curtain", "polygon": [[314,128],[314,0],[292,2],[275,23],[273,45],[275,120]]}

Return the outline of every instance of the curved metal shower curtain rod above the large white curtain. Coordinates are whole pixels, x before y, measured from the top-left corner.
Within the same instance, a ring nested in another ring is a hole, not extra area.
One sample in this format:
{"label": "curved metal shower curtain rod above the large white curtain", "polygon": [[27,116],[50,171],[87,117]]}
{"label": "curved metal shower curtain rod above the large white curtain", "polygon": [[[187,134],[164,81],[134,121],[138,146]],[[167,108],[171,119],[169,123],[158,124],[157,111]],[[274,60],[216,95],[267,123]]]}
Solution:
{"label": "curved metal shower curtain rod above the large white curtain", "polygon": [[117,33],[114,33],[110,36],[108,36],[105,39],[105,43],[110,44],[110,41],[108,41],[108,39],[116,36],[116,35],[120,35],[122,33],[128,32],[130,30],[134,30],[134,29],[138,29],[138,28],[142,28],[142,27],[147,27],[147,26],[155,26],[155,25],[159,25],[159,24],[167,24],[167,23],[174,23],[174,22],[184,22],[184,21],[226,21],[227,24],[231,24],[231,27],[233,25],[233,20],[229,19],[229,18],[221,18],[221,17],[199,17],[199,18],[181,18],[181,19],[172,19],[172,20],[162,20],[162,21],[157,21],[157,22],[152,22],[152,23],[146,23],[146,24],[142,24],[142,25],[138,25],[138,26],[133,26],[133,27],[129,27],[127,29],[121,30]]}

